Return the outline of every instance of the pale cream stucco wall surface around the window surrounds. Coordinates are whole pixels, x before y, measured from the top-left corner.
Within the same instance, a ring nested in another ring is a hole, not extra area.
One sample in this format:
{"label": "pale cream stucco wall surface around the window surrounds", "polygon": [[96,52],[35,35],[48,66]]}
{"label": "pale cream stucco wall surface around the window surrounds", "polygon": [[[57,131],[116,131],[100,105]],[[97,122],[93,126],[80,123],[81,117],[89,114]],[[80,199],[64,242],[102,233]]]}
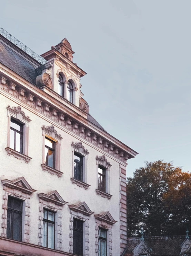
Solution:
{"label": "pale cream stucco wall surface around the window surrounds", "polygon": [[[18,99],[17,99],[18,100]],[[38,193],[48,193],[53,190],[57,190],[61,197],[73,204],[77,201],[85,201],[89,206],[90,210],[99,214],[102,211],[109,211],[117,221],[112,228],[112,253],[113,256],[120,255],[120,183],[119,183],[119,162],[111,159],[105,153],[107,160],[111,163],[110,169],[110,194],[113,195],[109,201],[107,198],[103,198],[96,194],[95,189],[97,188],[97,165],[96,156],[102,156],[101,149],[93,146],[91,142],[82,140],[77,134],[72,134],[71,131],[63,131],[60,127],[53,124],[58,133],[61,134],[63,139],[61,140],[61,168],[60,170],[64,173],[61,178],[56,175],[51,175],[48,172],[42,171],[42,125],[52,125],[51,121],[48,121],[48,117],[40,117],[29,109],[24,108],[21,102],[22,110],[26,115],[30,116],[31,122],[29,125],[29,157],[32,159],[28,164],[23,160],[14,158],[12,155],[8,156],[5,148],[7,147],[7,132],[8,132],[8,117],[7,117],[7,106],[8,104],[18,106],[19,104],[2,96],[0,94],[1,103],[1,140],[0,140],[0,179],[15,179],[23,176],[33,189],[37,192],[31,195],[30,199],[30,242],[37,244],[38,238],[38,225],[39,225],[39,197]],[[50,119],[51,120],[51,119]],[[59,124],[58,124],[59,125]],[[65,127],[66,129],[66,127]],[[82,141],[85,149],[90,153],[88,155],[88,174],[87,183],[91,185],[88,190],[78,187],[76,184],[72,184],[70,178],[72,177],[72,147],[71,143]],[[92,147],[91,147],[92,144]],[[3,204],[3,186],[0,183],[0,202]],[[63,206],[62,210],[62,247],[63,251],[69,252],[69,225],[70,225],[70,210],[68,204]],[[2,207],[0,207],[0,216],[2,216]],[[1,218],[1,217],[0,217]],[[90,216],[90,232],[89,232],[89,247],[90,255],[96,255],[95,253],[95,218],[93,215]]]}

